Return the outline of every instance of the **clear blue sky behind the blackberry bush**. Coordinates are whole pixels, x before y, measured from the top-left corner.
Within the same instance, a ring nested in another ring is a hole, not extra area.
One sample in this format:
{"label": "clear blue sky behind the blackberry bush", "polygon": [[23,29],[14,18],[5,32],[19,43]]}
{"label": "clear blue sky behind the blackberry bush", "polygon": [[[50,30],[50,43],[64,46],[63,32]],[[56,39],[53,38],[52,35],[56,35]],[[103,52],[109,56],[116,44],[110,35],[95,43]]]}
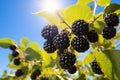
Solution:
{"label": "clear blue sky behind the blackberry bush", "polygon": [[[44,39],[41,37],[41,29],[47,23],[43,18],[33,15],[33,12],[42,9],[44,0],[0,0],[0,38],[11,38],[19,43],[22,37],[29,38],[41,46]],[[77,0],[56,0],[67,7]],[[118,3],[118,0],[112,0]],[[120,2],[119,2],[120,3]],[[98,8],[101,11],[102,8]],[[0,73],[7,69],[9,49],[0,48]],[[1,75],[1,74],[0,74]]]}

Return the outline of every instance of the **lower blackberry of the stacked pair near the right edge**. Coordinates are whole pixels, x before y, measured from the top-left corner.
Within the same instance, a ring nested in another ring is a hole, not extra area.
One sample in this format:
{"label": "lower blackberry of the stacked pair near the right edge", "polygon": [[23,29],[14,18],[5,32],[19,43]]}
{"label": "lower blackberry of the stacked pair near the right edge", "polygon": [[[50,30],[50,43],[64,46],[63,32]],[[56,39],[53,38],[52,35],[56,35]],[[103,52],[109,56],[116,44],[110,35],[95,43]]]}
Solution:
{"label": "lower blackberry of the stacked pair near the right edge", "polygon": [[116,35],[116,29],[114,27],[105,27],[102,35],[105,39],[111,39]]}

